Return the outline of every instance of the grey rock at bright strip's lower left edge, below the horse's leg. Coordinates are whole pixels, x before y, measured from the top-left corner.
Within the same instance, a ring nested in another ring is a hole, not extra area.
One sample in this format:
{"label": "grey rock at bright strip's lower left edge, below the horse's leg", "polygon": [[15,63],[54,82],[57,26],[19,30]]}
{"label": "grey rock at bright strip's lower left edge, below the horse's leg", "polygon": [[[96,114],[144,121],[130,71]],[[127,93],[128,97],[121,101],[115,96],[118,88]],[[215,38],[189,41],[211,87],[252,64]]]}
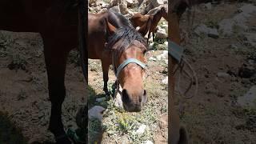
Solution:
{"label": "grey rock at bright strip's lower left edge, below the horse's leg", "polygon": [[97,118],[99,121],[102,121],[102,114],[104,110],[106,109],[102,106],[94,106],[93,108],[88,110],[89,118]]}

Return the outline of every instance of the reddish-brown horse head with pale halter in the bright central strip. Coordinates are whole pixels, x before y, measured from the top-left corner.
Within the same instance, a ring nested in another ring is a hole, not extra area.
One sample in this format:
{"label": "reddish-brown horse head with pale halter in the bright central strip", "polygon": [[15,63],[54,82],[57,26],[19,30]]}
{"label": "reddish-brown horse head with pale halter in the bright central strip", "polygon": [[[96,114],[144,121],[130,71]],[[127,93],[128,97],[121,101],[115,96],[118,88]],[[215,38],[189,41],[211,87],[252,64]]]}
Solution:
{"label": "reddish-brown horse head with pale halter in the bright central strip", "polygon": [[137,112],[146,103],[146,90],[142,83],[147,44],[131,27],[116,29],[106,21],[109,35],[106,48],[113,50],[112,61],[118,82],[122,86],[122,102],[127,111]]}

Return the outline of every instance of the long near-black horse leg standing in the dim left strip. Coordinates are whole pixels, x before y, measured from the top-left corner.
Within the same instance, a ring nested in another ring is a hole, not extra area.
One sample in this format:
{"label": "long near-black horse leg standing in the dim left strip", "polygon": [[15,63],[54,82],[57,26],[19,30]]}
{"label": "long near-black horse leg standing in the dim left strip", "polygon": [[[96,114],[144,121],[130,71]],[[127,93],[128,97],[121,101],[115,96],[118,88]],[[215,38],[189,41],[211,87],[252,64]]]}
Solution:
{"label": "long near-black horse leg standing in the dim left strip", "polygon": [[70,139],[62,124],[62,102],[66,96],[64,78],[68,51],[61,51],[58,47],[46,44],[44,50],[51,102],[49,130],[54,134],[56,143],[70,144]]}

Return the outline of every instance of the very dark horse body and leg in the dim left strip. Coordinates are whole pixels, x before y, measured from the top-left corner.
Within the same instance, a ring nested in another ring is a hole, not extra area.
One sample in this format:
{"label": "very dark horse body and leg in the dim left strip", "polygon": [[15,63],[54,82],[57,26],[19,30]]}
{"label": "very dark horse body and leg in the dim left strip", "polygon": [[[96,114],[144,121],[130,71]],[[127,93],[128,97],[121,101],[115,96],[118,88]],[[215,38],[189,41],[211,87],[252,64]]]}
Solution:
{"label": "very dark horse body and leg in the dim left strip", "polygon": [[[0,18],[0,30],[42,35],[51,102],[49,130],[57,143],[71,143],[63,129],[62,102],[66,95],[67,56],[78,46],[78,3],[69,0],[1,0]],[[86,46],[85,42],[83,46]],[[87,70],[83,71],[86,73]]]}

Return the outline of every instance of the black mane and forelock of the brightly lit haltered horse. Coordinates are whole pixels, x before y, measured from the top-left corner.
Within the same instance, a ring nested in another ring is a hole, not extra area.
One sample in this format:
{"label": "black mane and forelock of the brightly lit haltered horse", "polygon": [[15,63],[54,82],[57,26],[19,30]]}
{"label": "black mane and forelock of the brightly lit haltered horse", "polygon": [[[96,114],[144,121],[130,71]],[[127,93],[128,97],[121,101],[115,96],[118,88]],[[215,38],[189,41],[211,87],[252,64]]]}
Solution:
{"label": "black mane and forelock of the brightly lit haltered horse", "polygon": [[118,46],[117,50],[118,55],[122,54],[122,52],[126,50],[130,45],[133,45],[134,41],[141,42],[142,45],[145,46],[146,50],[148,48],[145,38],[143,38],[142,35],[134,29],[134,27],[123,26],[116,30],[116,32],[110,35],[110,37],[108,38],[107,47],[114,46],[114,44],[118,41],[121,41],[120,46]]}

